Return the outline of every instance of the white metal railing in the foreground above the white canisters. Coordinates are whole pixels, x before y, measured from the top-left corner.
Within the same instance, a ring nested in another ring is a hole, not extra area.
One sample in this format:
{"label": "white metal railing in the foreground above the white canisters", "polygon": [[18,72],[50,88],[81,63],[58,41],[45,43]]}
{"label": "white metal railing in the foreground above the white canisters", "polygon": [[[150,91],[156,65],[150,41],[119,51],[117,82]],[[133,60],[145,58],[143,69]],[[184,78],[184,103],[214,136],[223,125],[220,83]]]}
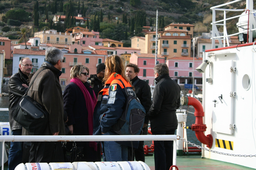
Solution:
{"label": "white metal railing in the foreground above the white canisters", "polygon": [[53,141],[174,141],[173,143],[173,165],[176,165],[176,135],[68,135],[68,136],[0,136],[2,146],[2,170],[4,170],[5,142],[53,142]]}

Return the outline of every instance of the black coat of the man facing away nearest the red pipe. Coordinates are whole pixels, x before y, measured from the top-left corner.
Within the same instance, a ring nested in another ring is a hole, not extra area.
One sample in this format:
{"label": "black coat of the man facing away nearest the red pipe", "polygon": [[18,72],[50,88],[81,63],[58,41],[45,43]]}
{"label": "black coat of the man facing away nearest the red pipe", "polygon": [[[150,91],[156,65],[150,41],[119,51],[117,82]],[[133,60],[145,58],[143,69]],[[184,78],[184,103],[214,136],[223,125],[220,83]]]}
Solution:
{"label": "black coat of the man facing away nearest the red pipe", "polygon": [[176,109],[180,107],[180,86],[169,74],[157,77],[152,106],[148,112],[152,132],[175,130],[178,126]]}

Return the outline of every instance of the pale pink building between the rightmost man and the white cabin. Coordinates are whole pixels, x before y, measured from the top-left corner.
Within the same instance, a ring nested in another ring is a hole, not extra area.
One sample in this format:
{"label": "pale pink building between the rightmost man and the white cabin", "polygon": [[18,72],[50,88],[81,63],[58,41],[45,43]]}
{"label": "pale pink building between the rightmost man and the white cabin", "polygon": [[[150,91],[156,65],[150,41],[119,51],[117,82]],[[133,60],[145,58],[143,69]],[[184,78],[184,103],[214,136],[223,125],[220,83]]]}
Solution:
{"label": "pale pink building between the rightmost man and the white cabin", "polygon": [[202,58],[195,58],[195,66],[193,66],[193,57],[173,57],[166,61],[169,68],[170,77],[175,80],[181,88],[183,84],[193,84],[193,68],[194,68],[194,84],[199,88],[202,87],[202,74],[196,68],[202,64]]}

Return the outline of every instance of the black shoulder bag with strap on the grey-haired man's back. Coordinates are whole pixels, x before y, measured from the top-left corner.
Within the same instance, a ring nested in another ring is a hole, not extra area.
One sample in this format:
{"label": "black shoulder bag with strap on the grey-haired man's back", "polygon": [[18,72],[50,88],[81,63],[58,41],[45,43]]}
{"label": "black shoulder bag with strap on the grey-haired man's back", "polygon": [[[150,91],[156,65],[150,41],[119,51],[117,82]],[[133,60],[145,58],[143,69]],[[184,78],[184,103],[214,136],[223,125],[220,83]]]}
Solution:
{"label": "black shoulder bag with strap on the grey-haired man's back", "polygon": [[[41,71],[43,70],[44,69]],[[39,73],[41,71],[39,71]],[[39,75],[39,73],[37,75]],[[30,83],[28,90],[30,89],[34,80]],[[44,106],[27,95],[28,90],[26,91],[25,95],[21,97],[20,103],[16,107],[13,114],[13,119],[32,135],[42,135],[46,124],[48,123],[49,113]]]}

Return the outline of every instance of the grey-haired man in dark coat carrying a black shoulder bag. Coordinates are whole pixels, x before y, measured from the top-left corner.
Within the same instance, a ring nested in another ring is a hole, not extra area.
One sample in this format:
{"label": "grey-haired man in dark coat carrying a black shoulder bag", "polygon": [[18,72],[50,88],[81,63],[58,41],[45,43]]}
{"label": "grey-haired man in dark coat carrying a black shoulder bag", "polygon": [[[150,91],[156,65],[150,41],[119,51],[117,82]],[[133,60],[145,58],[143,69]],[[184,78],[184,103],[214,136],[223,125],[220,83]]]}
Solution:
{"label": "grey-haired man in dark coat carrying a black shoulder bag", "polygon": [[[48,48],[45,51],[45,62],[32,77],[33,86],[29,89],[28,95],[39,102],[49,113],[48,124],[42,135],[65,135],[63,121],[63,96],[59,84],[59,76],[63,62],[63,52],[58,48]],[[41,71],[43,70],[43,71]],[[39,73],[39,71],[41,71]],[[36,75],[38,75],[36,77]],[[36,78],[35,78],[36,77]],[[30,82],[30,83],[31,83]],[[25,130],[23,128],[23,130]],[[25,131],[26,135],[30,135]],[[50,163],[63,162],[64,155],[61,150],[61,142],[31,142],[29,162]],[[58,150],[59,148],[59,150]],[[56,152],[56,150],[58,152]],[[55,151],[55,152],[54,152]]]}

